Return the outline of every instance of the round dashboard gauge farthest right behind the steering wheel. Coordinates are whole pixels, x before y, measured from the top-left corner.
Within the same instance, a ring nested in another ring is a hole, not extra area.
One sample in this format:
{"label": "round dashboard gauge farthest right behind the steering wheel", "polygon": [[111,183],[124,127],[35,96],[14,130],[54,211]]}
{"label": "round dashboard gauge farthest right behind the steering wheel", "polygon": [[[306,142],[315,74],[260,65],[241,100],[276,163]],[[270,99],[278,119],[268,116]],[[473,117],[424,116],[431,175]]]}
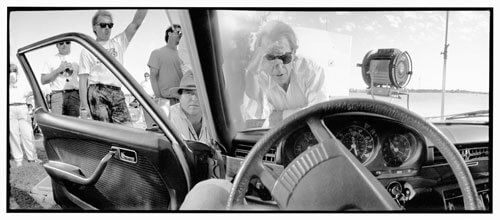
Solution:
{"label": "round dashboard gauge farthest right behind the steering wheel", "polygon": [[406,135],[389,136],[382,144],[382,155],[389,167],[401,166],[410,158],[411,142]]}

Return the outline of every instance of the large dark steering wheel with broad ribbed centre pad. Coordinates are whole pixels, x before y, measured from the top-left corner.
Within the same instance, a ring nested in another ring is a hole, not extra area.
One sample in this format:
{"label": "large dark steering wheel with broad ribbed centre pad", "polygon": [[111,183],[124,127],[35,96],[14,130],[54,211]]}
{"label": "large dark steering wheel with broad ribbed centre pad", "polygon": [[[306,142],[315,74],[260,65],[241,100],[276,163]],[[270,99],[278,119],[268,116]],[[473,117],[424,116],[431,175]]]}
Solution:
{"label": "large dark steering wheel with broad ribbed centre pad", "polygon": [[[466,210],[482,209],[471,173],[458,150],[433,124],[402,107],[371,99],[339,99],[302,110],[266,133],[249,152],[233,183],[226,209],[243,206],[250,179],[260,178],[280,209],[401,210],[384,186],[335,138],[323,118],[346,112],[387,116],[414,128],[442,153],[457,178]],[[262,158],[272,144],[307,123],[318,144],[277,176]]]}

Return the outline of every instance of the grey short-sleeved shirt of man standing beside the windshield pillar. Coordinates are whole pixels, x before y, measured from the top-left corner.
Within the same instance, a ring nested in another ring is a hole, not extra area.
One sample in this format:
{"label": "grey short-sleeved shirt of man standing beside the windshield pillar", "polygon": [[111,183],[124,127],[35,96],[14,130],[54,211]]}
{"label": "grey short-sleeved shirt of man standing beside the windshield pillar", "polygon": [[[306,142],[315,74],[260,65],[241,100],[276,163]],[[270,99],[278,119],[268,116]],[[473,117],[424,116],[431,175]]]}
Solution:
{"label": "grey short-sleeved shirt of man standing beside the windshield pillar", "polygon": [[[170,94],[170,88],[178,87],[186,71],[184,62],[177,50],[164,46],[153,50],[149,57],[148,66],[158,69],[158,89],[162,98],[175,97]],[[153,79],[152,79],[153,80]]]}

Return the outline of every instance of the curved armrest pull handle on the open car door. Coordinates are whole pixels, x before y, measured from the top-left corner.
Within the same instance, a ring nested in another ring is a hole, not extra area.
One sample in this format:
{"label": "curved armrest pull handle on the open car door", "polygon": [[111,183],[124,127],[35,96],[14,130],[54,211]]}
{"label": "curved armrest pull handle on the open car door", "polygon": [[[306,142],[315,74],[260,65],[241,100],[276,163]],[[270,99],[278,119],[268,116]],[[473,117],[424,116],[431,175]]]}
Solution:
{"label": "curved armrest pull handle on the open car door", "polygon": [[44,164],[43,167],[51,176],[51,178],[62,179],[80,185],[94,185],[104,172],[108,161],[115,154],[116,149],[113,149],[112,147],[109,152],[101,159],[96,169],[89,177],[85,177],[79,167],[60,161],[49,161],[48,163]]}

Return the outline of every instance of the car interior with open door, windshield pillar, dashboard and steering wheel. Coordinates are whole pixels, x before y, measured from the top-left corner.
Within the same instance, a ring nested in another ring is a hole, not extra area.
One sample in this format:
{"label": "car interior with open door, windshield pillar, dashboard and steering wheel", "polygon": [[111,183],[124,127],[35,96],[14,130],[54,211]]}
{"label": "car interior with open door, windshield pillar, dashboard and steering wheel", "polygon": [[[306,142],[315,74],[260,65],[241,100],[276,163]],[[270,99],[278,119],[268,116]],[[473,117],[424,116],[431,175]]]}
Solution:
{"label": "car interior with open door, windshield pillar, dashboard and steering wheel", "polygon": [[[233,105],[242,97],[228,86],[234,79],[227,63],[239,59],[225,54],[221,23],[228,9],[164,11],[182,25],[212,143],[184,140],[133,74],[91,36],[61,33],[11,48],[34,91],[34,118],[49,159],[43,166],[64,210],[183,211],[197,183],[217,178],[233,184],[228,212],[492,211],[490,115],[431,122],[389,102],[347,97],[308,107],[275,127],[248,126]],[[60,41],[104,63],[156,126],[53,114],[32,57]]]}

